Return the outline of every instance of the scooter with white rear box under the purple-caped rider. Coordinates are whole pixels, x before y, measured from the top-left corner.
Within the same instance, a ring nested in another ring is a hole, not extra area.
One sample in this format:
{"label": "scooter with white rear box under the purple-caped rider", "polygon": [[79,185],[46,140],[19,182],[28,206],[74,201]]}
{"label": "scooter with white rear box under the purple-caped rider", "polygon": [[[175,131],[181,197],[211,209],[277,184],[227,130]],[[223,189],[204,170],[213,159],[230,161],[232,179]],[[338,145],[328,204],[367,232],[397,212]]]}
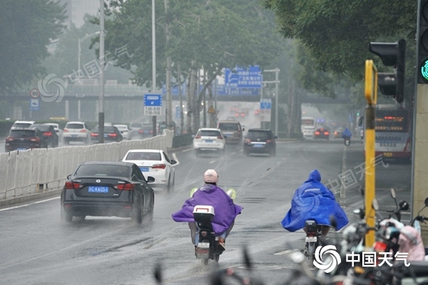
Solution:
{"label": "scooter with white rear box under the purple-caped rider", "polygon": [[218,246],[218,237],[215,237],[213,231],[213,222],[215,216],[213,206],[197,205],[193,209],[193,217],[198,225],[199,241],[196,246],[195,255],[197,259],[202,259],[205,265],[208,261],[218,262],[223,248]]}

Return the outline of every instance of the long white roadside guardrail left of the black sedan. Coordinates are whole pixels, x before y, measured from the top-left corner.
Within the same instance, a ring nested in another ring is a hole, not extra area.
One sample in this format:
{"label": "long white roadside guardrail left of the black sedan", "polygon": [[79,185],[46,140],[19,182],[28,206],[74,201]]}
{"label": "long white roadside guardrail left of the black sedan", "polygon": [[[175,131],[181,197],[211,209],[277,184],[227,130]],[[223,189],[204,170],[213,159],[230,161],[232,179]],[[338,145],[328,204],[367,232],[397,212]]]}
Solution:
{"label": "long white roadside guardrail left of the black sedan", "polygon": [[173,131],[145,140],[126,140],[96,145],[70,145],[56,148],[0,153],[0,200],[58,189],[67,175],[85,161],[118,161],[128,150],[168,151]]}

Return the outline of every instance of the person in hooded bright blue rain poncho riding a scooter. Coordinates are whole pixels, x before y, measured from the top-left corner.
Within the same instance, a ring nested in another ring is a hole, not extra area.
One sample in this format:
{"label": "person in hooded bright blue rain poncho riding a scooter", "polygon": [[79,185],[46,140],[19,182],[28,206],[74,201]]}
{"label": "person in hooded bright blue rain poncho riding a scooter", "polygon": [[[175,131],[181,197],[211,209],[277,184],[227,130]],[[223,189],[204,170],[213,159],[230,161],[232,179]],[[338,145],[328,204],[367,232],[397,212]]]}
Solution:
{"label": "person in hooded bright blue rain poncho riding a scooter", "polygon": [[308,219],[315,219],[317,225],[322,225],[322,236],[326,236],[331,227],[331,215],[335,217],[336,230],[342,229],[349,222],[333,192],[322,185],[320,172],[312,170],[309,178],[295,190],[291,208],[281,224],[287,231],[295,232],[304,229]]}

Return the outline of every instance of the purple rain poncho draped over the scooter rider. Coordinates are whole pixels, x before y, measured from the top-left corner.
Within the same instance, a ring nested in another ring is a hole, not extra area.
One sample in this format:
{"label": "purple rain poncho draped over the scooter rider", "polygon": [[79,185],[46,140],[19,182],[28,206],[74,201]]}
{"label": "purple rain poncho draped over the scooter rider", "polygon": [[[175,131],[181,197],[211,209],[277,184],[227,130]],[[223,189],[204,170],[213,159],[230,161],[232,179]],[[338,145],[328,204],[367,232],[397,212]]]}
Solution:
{"label": "purple rain poncho draped over the scooter rider", "polygon": [[195,222],[193,208],[196,205],[214,207],[213,230],[216,236],[228,230],[230,224],[243,209],[243,207],[234,204],[233,199],[220,187],[204,184],[193,194],[193,197],[184,202],[183,207],[178,212],[173,214],[173,220],[175,222]]}

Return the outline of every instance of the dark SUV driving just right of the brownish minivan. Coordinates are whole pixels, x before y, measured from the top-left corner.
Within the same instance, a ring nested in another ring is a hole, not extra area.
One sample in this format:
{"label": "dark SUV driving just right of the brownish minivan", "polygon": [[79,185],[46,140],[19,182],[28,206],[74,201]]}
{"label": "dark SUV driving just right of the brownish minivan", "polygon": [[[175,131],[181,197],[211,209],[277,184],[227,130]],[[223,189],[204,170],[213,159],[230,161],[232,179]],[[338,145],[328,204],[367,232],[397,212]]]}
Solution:
{"label": "dark SUV driving just right of the brownish minivan", "polygon": [[251,153],[265,153],[271,156],[276,155],[277,136],[272,130],[253,128],[249,129],[244,138],[243,152],[245,156]]}

